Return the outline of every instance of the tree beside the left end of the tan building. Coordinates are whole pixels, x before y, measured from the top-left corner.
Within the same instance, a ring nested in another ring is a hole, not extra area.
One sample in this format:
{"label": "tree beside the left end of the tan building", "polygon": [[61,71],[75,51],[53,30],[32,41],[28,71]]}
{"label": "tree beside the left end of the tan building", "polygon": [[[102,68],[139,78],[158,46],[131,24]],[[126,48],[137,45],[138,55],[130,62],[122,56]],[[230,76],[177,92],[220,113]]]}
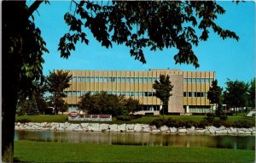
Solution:
{"label": "tree beside the left end of the tan building", "polygon": [[49,72],[49,76],[46,76],[46,85],[49,89],[49,93],[52,93],[55,115],[58,114],[57,104],[60,104],[61,101],[64,104],[64,100],[61,100],[61,98],[67,97],[67,94],[64,93],[64,89],[71,85],[69,81],[72,79],[72,75],[68,73],[69,71],[54,70],[53,72]]}

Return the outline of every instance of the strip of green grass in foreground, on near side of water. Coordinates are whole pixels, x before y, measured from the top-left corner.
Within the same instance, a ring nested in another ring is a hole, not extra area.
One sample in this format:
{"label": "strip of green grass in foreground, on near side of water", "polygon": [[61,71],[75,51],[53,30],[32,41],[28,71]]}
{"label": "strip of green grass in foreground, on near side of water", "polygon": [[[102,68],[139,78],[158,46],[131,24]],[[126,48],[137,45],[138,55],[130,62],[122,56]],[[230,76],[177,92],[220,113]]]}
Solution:
{"label": "strip of green grass in foreground, on near side of water", "polygon": [[254,150],[15,142],[15,162],[254,162]]}

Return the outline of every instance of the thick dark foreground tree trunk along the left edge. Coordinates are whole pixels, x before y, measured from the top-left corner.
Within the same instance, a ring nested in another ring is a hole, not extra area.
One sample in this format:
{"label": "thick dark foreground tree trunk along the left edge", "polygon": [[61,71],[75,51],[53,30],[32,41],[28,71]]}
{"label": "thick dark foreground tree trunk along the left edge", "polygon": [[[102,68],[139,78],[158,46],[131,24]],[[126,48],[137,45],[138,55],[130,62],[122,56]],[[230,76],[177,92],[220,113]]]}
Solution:
{"label": "thick dark foreground tree trunk along the left edge", "polygon": [[26,2],[3,1],[2,9],[2,160],[13,162],[15,112],[22,64],[20,31],[26,29]]}

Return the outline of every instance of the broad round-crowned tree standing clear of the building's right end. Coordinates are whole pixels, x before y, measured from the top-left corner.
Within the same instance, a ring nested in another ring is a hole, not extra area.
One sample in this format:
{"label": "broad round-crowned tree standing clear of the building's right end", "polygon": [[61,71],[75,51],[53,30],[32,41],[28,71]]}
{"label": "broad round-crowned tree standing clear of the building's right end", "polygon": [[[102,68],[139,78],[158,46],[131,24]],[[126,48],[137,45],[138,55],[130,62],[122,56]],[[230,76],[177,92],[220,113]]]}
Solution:
{"label": "broad round-crowned tree standing clear of the building's right end", "polygon": [[247,89],[248,86],[245,82],[230,81],[226,82],[226,90],[224,91],[224,102],[229,107],[237,108],[244,107],[247,104]]}

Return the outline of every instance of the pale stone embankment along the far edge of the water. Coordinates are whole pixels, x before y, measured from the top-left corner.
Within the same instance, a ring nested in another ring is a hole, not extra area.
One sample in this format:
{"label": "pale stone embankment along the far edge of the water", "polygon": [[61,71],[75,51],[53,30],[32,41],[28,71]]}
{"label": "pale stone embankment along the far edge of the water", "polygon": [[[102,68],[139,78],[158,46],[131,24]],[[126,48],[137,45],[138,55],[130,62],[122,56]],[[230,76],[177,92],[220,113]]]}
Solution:
{"label": "pale stone embankment along the far edge of the water", "polygon": [[186,133],[186,134],[225,134],[225,135],[256,135],[255,126],[251,128],[234,128],[234,127],[215,127],[207,126],[206,128],[168,127],[149,126],[145,124],[105,124],[105,123],[15,123],[15,130],[49,130],[49,131],[77,131],[77,132],[154,132],[154,133]]}

